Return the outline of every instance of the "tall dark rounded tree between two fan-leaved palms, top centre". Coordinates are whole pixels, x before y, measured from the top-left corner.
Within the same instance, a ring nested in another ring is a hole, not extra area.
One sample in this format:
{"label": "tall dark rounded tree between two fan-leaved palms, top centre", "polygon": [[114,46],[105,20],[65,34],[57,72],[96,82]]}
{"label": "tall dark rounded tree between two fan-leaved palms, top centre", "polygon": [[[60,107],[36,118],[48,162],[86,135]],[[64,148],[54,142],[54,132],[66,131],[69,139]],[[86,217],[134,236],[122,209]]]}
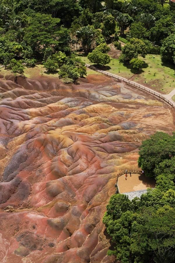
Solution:
{"label": "tall dark rounded tree between two fan-leaved palms, top centre", "polygon": [[111,34],[115,33],[115,18],[112,15],[105,15],[101,25],[102,35],[109,39]]}

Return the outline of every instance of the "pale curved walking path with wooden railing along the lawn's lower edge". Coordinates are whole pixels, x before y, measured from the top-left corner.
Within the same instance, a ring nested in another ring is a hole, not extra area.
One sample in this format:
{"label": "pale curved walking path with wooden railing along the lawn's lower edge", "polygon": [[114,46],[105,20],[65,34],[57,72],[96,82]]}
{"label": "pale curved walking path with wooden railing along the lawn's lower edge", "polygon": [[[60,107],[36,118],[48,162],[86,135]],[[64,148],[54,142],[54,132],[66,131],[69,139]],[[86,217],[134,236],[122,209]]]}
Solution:
{"label": "pale curved walking path with wooden railing along the lawn's lower edge", "polygon": [[143,85],[141,85],[141,84],[138,84],[137,82],[131,81],[131,80],[129,80],[129,79],[125,79],[125,78],[123,78],[123,77],[120,77],[120,76],[118,76],[118,75],[109,73],[109,72],[104,71],[104,70],[98,70],[97,68],[95,68],[95,67],[92,66],[92,65],[85,64],[85,66],[86,66],[87,68],[90,68],[90,69],[92,69],[92,70],[95,70],[95,71],[97,71],[97,72],[100,72],[100,73],[102,73],[102,74],[104,74],[104,75],[113,77],[113,78],[115,78],[115,79],[122,80],[122,81],[124,81],[124,82],[126,82],[126,83],[129,83],[129,84],[131,84],[131,85],[133,85],[133,86],[136,86],[136,87],[139,88],[139,89],[143,89],[143,90],[145,90],[145,91],[148,91],[149,93],[154,94],[155,96],[161,98],[162,100],[166,101],[169,105],[171,105],[173,108],[175,108],[175,102],[174,102],[171,98],[169,98],[169,99],[166,98],[166,95],[163,95],[163,94],[161,94],[161,93],[159,93],[159,92],[155,92],[154,90],[152,90],[152,89],[150,89],[150,88],[148,88],[148,87],[146,87],[146,86],[143,86]]}

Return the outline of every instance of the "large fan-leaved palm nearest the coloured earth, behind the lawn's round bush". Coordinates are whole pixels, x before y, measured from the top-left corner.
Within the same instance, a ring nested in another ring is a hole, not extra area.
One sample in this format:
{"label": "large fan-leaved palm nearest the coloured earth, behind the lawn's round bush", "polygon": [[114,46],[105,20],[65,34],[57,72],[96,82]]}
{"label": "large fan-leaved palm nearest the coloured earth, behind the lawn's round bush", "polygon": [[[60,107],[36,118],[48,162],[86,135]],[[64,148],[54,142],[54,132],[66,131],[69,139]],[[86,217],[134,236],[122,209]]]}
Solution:
{"label": "large fan-leaved palm nearest the coloured earth, behind the lawn's round bush", "polygon": [[81,27],[76,31],[76,37],[81,40],[82,47],[86,54],[90,51],[94,36],[94,30],[90,26]]}

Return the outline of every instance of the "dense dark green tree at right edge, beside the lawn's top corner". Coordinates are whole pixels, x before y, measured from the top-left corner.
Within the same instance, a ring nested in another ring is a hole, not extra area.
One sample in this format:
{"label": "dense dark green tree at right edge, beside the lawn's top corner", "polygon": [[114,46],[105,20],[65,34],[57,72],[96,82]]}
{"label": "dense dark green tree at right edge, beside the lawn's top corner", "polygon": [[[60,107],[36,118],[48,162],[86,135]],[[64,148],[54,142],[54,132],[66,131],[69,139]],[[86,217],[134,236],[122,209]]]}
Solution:
{"label": "dense dark green tree at right edge, beside the lawn's top corner", "polygon": [[167,61],[175,64],[175,35],[167,37],[160,49],[162,61]]}

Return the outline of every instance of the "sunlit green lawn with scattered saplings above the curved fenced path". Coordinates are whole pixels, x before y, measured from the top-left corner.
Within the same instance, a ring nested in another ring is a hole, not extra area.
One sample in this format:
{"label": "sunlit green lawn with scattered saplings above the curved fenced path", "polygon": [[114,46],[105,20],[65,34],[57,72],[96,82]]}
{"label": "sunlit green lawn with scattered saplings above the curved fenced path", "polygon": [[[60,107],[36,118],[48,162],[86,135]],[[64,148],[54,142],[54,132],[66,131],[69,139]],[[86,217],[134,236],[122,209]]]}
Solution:
{"label": "sunlit green lawn with scattered saplings above the curved fenced path", "polygon": [[[154,58],[153,58],[154,57]],[[87,57],[81,56],[81,59],[90,65]],[[131,67],[119,63],[118,59],[111,59],[104,70],[125,78],[131,78],[140,84],[150,87],[163,94],[168,94],[175,89],[175,66],[163,64],[160,55],[148,54],[145,58],[145,68],[138,74]],[[136,74],[137,73],[137,74]]]}

